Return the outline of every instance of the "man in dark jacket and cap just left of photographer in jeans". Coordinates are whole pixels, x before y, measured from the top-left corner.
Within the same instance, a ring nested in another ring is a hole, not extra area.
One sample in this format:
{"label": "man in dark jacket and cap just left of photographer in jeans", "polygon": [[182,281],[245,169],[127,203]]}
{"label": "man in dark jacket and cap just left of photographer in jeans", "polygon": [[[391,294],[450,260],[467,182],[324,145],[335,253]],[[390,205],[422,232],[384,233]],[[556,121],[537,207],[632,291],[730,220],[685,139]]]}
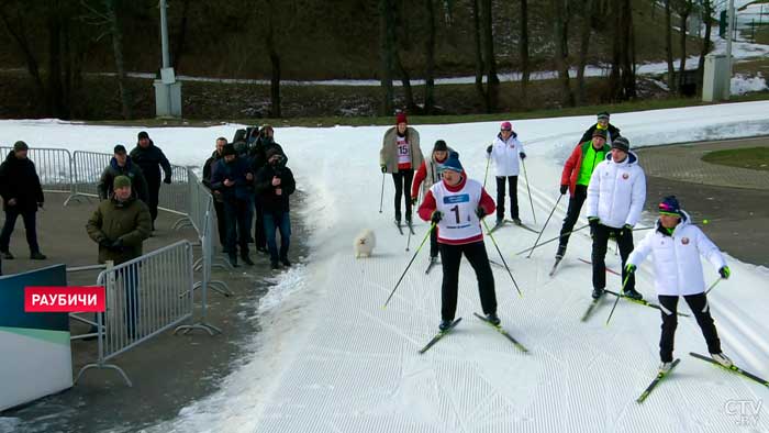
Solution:
{"label": "man in dark jacket and cap just left of photographer in jeans", "polygon": [[230,264],[237,266],[237,247],[241,246],[243,263],[250,266],[248,257],[248,233],[250,232],[254,204],[254,173],[245,158],[239,158],[232,144],[222,149],[222,158],[211,175],[211,188],[220,191],[227,219],[227,254]]}

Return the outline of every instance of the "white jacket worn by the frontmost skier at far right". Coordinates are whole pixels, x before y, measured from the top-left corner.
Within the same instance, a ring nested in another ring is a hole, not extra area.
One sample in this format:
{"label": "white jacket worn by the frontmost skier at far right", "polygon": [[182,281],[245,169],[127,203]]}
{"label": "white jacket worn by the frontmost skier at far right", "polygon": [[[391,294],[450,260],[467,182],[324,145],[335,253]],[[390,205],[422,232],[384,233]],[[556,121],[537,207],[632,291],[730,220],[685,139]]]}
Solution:
{"label": "white jacket worn by the frontmost skier at far right", "polygon": [[[655,289],[657,295],[687,296],[702,293],[705,280],[702,276],[704,256],[716,270],[726,266],[718,247],[702,230],[691,223],[686,212],[672,236],[655,230],[644,237],[627,258],[628,264],[640,265],[651,254],[654,257]],[[659,227],[659,221],[656,224]]]}

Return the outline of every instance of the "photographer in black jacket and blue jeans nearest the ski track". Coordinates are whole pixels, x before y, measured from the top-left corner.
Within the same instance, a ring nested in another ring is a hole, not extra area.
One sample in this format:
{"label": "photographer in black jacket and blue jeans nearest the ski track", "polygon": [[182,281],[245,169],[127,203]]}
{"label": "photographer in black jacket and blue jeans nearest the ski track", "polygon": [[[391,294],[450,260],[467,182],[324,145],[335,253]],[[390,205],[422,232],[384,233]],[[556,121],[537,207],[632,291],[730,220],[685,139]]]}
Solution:
{"label": "photographer in black jacket and blue jeans nearest the ski track", "polygon": [[[291,266],[288,249],[291,241],[291,220],[289,218],[289,196],[297,189],[293,174],[286,167],[285,156],[272,147],[267,151],[267,165],[256,175],[256,193],[261,203],[265,219],[265,234],[270,254],[272,269],[280,263]],[[275,240],[276,229],[280,231],[280,252]]]}

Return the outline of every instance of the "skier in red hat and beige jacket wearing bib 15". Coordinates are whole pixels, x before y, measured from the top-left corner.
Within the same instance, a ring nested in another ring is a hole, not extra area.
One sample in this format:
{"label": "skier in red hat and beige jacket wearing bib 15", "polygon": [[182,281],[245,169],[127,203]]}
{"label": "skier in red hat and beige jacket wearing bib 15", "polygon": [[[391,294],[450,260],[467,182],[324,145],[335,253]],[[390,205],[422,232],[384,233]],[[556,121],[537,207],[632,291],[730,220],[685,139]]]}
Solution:
{"label": "skier in red hat and beige jacket wearing bib 15", "polygon": [[395,224],[401,225],[401,197],[405,207],[405,221],[411,225],[411,203],[406,196],[411,190],[414,168],[422,164],[420,133],[409,126],[404,112],[395,116],[395,126],[390,127],[382,138],[379,151],[379,166],[382,173],[392,174],[395,185]]}

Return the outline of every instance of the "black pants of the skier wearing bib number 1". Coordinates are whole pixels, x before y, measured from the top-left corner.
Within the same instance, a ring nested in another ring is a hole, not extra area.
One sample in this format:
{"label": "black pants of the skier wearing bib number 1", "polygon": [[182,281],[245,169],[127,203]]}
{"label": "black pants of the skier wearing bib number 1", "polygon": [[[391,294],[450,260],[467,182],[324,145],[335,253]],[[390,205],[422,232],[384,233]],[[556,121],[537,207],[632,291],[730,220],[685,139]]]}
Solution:
{"label": "black pants of the skier wearing bib number 1", "polygon": [[441,263],[443,265],[443,286],[441,287],[441,319],[454,320],[457,311],[457,295],[459,290],[459,264],[462,254],[470,262],[478,279],[478,292],[481,298],[483,314],[497,313],[497,293],[494,292],[494,275],[489,265],[483,241],[464,245],[441,244]]}

